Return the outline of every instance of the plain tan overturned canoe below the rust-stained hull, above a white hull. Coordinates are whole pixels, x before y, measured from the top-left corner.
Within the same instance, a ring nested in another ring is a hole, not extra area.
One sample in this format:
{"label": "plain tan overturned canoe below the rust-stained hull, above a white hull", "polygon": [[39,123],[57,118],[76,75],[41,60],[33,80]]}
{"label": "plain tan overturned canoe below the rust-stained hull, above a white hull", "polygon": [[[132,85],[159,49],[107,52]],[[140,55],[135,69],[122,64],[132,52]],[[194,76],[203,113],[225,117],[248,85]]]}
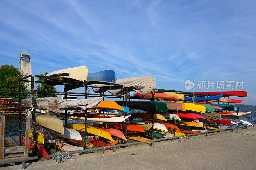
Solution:
{"label": "plain tan overturned canoe below the rust-stained hull, above a white hull", "polygon": [[[32,114],[30,114],[29,117],[30,121],[32,121]],[[35,117],[36,124],[65,135],[63,122],[57,116],[44,113],[35,113]]]}

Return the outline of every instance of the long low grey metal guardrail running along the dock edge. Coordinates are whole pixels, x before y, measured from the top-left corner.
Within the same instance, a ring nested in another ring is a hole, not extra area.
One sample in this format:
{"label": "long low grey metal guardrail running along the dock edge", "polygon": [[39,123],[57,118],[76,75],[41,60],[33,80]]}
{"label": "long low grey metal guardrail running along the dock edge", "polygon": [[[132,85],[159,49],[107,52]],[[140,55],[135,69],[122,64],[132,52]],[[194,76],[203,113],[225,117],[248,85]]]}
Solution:
{"label": "long low grey metal guardrail running along the dock edge", "polygon": [[[253,124],[253,127],[255,127],[255,125],[256,124]],[[211,130],[211,131],[207,131],[207,132],[200,132],[200,133],[194,133],[194,134],[187,134],[186,137],[188,137],[188,139],[190,139],[191,136],[200,135],[200,134],[206,134],[206,136],[208,136],[209,133],[214,133],[214,132],[219,132],[219,131],[220,131],[220,133],[222,133],[223,130],[229,130],[229,129],[232,129],[232,131],[234,131],[234,129],[238,130],[239,128],[244,128],[244,127],[248,127],[248,125],[236,126],[236,127],[232,127],[232,128],[226,128],[226,129]],[[180,141],[181,137],[184,137],[184,136],[182,135],[182,136],[176,136],[176,137],[166,137],[166,138],[161,138],[161,139],[153,139],[153,140],[147,140],[147,141],[132,142],[132,143],[127,143],[127,144],[117,144],[117,145],[106,146],[106,147],[84,149],[84,150],[80,150],[80,151],[66,152],[66,153],[63,153],[62,155],[81,153],[81,152],[90,152],[90,151],[96,151],[96,150],[108,149],[108,148],[114,148],[113,152],[116,153],[116,148],[117,147],[122,147],[122,146],[127,146],[127,145],[132,145],[132,144],[142,144],[142,143],[146,143],[146,142],[151,142],[150,146],[155,146],[154,145],[155,141],[167,140],[167,139],[176,139],[176,138],[179,138],[179,141]],[[51,155],[47,155],[46,158],[51,158],[51,157],[56,157],[56,156],[58,156],[58,154],[51,154]],[[20,159],[12,159],[12,160],[4,160],[4,161],[0,161],[0,165],[10,164],[10,163],[15,163],[15,162],[21,162],[22,163],[22,169],[25,169],[26,161],[35,160],[35,159],[38,159],[38,156],[28,157],[28,158],[20,158]]]}

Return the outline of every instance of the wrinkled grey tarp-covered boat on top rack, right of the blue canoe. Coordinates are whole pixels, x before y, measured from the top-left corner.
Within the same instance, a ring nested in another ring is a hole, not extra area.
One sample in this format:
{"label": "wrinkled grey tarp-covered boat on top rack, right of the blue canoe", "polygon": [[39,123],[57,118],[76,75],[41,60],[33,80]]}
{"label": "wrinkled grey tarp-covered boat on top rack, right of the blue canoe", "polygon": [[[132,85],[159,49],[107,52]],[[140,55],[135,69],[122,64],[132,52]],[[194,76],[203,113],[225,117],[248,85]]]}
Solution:
{"label": "wrinkled grey tarp-covered boat on top rack, right of the blue canoe", "polygon": [[[128,87],[128,92],[135,91],[143,95],[149,94],[153,89],[156,88],[156,80],[153,77],[133,77],[132,76],[130,78],[116,79],[116,84],[124,85],[124,87]],[[108,85],[94,84],[93,86],[94,86],[93,92],[99,93],[100,88],[97,88],[97,87],[106,87]],[[105,91],[108,91],[112,95],[120,96],[123,94],[121,87],[120,89],[116,89],[116,88],[111,89],[110,87],[110,89],[106,89]]]}

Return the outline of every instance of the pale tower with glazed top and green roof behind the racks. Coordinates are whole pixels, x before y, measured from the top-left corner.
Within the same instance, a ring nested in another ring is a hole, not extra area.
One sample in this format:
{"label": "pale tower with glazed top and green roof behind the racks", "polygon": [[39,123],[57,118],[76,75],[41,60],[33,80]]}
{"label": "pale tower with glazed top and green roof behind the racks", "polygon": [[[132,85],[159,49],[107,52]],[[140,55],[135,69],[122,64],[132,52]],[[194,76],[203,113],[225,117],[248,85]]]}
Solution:
{"label": "pale tower with glazed top and green roof behind the racks", "polygon": [[[28,54],[27,52],[23,52],[20,54],[19,70],[23,72],[23,75],[27,74],[28,76],[32,74],[30,59],[30,54]],[[31,80],[31,78],[28,78],[28,80]],[[31,83],[29,82],[27,85],[27,89],[31,90]]]}

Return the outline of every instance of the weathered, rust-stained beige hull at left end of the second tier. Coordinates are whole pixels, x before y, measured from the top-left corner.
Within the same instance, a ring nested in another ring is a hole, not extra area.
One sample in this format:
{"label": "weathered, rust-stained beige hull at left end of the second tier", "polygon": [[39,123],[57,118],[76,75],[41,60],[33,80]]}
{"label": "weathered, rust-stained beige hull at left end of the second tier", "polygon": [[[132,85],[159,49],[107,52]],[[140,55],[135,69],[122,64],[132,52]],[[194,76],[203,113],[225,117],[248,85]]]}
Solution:
{"label": "weathered, rust-stained beige hull at left end of the second tier", "polygon": [[[32,107],[31,99],[21,100],[21,107]],[[42,97],[36,98],[36,106],[47,110],[52,110],[54,112],[60,112],[59,99],[58,97]]]}

